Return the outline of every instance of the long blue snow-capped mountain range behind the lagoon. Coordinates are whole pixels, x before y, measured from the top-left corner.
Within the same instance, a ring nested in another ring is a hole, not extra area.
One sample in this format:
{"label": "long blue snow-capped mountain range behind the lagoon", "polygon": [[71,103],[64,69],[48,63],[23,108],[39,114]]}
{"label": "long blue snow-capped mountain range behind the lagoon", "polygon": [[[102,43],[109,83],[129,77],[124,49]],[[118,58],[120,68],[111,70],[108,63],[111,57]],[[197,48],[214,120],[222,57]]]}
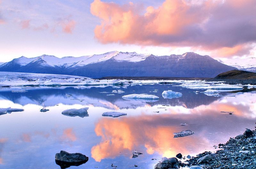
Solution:
{"label": "long blue snow-capped mountain range behind the lagoon", "polygon": [[182,55],[155,56],[136,52],[112,51],[100,55],[57,58],[42,55],[24,56],[0,65],[0,71],[52,73],[92,78],[106,76],[215,77],[236,68],[222,64],[210,56],[194,52]]}

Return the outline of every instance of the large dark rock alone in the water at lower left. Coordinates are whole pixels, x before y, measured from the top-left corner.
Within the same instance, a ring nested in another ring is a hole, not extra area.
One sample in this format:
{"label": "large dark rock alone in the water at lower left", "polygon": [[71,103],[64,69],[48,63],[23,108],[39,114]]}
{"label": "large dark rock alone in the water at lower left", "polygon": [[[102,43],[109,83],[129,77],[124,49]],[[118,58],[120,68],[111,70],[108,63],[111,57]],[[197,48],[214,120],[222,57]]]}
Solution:
{"label": "large dark rock alone in the water at lower left", "polygon": [[61,169],[84,164],[88,159],[88,157],[81,153],[68,153],[63,150],[55,154],[55,162],[57,165],[60,165]]}

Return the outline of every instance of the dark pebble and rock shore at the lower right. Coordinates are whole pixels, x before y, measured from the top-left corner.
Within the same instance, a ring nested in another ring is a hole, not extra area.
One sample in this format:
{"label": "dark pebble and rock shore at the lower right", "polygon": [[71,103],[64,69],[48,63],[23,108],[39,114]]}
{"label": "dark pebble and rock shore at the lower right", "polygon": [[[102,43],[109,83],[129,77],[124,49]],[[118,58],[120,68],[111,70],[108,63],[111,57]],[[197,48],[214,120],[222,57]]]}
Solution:
{"label": "dark pebble and rock shore at the lower right", "polygon": [[[219,144],[216,153],[205,151],[196,157],[183,157],[184,162],[176,157],[166,158],[156,164],[155,169],[255,169],[256,168],[256,131],[246,129],[244,134],[230,138],[227,143]],[[180,158],[180,157],[178,157]],[[176,160],[177,159],[177,160]]]}

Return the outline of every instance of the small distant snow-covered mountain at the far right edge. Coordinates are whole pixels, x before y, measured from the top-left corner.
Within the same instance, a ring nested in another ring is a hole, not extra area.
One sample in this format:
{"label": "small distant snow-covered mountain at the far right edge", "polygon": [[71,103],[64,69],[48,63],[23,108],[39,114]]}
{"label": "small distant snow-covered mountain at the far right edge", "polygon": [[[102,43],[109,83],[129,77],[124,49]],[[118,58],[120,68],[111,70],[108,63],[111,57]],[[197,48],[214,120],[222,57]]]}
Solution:
{"label": "small distant snow-covered mountain at the far right edge", "polygon": [[225,61],[218,59],[220,63],[236,67],[238,70],[245,70],[256,73],[256,58],[232,58]]}

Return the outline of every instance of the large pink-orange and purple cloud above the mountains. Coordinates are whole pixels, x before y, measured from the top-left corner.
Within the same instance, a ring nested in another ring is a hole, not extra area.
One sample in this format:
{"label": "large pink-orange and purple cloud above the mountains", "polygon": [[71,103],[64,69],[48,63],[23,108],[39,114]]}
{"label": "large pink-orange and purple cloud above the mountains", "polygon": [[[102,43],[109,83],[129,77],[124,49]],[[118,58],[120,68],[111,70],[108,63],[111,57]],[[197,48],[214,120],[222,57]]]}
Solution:
{"label": "large pink-orange and purple cloud above the mountains", "polygon": [[256,42],[255,5],[254,0],[165,0],[145,10],[94,0],[91,13],[101,20],[94,33],[104,44],[187,46],[231,56],[246,53],[247,44]]}

